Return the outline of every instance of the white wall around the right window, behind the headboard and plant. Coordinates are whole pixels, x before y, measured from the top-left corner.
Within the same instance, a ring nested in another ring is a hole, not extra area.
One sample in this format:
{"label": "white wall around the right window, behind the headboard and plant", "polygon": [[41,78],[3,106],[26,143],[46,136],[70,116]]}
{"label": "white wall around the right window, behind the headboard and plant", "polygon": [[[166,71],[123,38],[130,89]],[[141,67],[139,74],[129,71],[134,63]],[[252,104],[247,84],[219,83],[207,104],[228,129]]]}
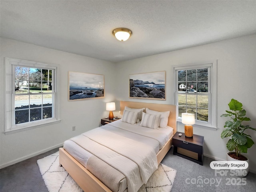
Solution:
{"label": "white wall around the right window, behind the headboard and plant", "polygon": [[[217,74],[217,131],[197,128],[194,134],[204,136],[204,155],[216,160],[226,160],[226,140],[220,138],[226,118],[220,115],[228,110],[228,103],[234,98],[243,103],[248,124],[256,128],[256,35],[196,46],[164,54],[157,54],[117,65],[117,100],[174,104],[174,67],[187,64],[204,64],[218,60]],[[129,99],[129,74],[166,70],[166,101]],[[178,131],[184,126],[178,124]],[[256,142],[256,131],[248,131]],[[256,145],[248,149],[250,170],[256,172]]]}

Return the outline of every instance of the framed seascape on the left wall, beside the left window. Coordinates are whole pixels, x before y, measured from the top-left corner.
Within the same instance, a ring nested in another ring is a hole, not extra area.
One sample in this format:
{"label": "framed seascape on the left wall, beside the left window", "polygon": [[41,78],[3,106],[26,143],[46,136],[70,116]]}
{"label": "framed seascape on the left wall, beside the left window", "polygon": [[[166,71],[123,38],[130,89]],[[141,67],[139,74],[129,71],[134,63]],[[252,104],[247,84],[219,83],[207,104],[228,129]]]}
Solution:
{"label": "framed seascape on the left wall, beside the left window", "polygon": [[104,98],[104,75],[68,72],[68,100]]}

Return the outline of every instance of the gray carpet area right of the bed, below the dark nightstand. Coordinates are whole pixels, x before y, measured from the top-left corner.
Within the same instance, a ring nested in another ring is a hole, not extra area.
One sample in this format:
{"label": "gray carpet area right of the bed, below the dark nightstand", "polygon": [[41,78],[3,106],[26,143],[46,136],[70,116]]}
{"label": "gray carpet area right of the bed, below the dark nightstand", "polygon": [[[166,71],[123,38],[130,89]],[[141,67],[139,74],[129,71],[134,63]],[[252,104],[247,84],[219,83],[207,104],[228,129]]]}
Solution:
{"label": "gray carpet area right of the bed, below the dark nightstand", "polygon": [[[220,176],[210,168],[213,159],[204,157],[201,166],[185,158],[172,155],[172,149],[165,156],[162,164],[177,170],[172,192],[254,192],[256,189],[256,174],[251,172],[243,179],[238,176]],[[202,184],[197,182],[202,181]],[[218,182],[220,183],[218,185]],[[196,184],[195,184],[196,182]],[[212,182],[212,184],[211,184]],[[214,183],[215,182],[215,183]],[[230,184],[230,185],[229,185]]]}

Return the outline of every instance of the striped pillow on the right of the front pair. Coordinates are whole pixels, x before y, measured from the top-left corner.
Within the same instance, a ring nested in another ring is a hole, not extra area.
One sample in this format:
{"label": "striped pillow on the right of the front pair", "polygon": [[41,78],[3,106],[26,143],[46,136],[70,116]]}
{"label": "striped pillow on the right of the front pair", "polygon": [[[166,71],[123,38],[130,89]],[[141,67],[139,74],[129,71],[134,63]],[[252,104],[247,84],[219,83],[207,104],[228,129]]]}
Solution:
{"label": "striped pillow on the right of the front pair", "polygon": [[159,115],[150,115],[148,113],[142,112],[142,120],[140,126],[148,127],[152,129],[158,129],[160,122],[160,114]]}

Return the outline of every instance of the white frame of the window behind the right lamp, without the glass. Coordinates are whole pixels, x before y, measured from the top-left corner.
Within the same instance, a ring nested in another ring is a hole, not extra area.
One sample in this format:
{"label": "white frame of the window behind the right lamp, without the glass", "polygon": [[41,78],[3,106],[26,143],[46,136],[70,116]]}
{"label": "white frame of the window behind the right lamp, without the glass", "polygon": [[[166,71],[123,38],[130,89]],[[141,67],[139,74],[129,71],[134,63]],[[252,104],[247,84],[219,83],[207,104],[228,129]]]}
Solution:
{"label": "white frame of the window behind the right lamp, without the glass", "polygon": [[[217,122],[217,60],[215,62],[205,62],[204,64],[187,65],[174,67],[174,103],[178,106],[178,70],[190,70],[210,67],[208,74],[208,122],[196,120],[196,127],[216,130]],[[210,82],[210,83],[209,83]],[[178,108],[178,107],[177,107]],[[182,118],[176,112],[177,122],[182,124]]]}

